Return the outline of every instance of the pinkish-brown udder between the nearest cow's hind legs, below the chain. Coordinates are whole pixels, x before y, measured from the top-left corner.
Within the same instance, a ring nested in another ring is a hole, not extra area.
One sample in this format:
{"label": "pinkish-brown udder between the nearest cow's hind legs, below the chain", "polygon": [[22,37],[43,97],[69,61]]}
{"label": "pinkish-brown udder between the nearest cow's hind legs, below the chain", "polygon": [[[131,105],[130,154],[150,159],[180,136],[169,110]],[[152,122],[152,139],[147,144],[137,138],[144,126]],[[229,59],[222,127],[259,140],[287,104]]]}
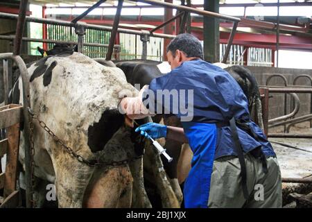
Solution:
{"label": "pinkish-brown udder between the nearest cow's hind legs, below the chain", "polygon": [[132,176],[128,166],[98,168],[87,186],[83,207],[130,207]]}

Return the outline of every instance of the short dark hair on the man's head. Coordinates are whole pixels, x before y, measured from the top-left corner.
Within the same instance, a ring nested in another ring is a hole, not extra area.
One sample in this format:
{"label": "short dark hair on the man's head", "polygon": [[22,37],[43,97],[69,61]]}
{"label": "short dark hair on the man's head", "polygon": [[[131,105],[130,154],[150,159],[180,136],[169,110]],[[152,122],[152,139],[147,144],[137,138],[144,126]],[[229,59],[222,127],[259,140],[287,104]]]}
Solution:
{"label": "short dark hair on the man's head", "polygon": [[187,57],[198,57],[201,59],[204,57],[200,40],[189,33],[182,33],[171,40],[167,46],[167,53],[171,51],[173,56],[175,56],[177,49],[183,51]]}

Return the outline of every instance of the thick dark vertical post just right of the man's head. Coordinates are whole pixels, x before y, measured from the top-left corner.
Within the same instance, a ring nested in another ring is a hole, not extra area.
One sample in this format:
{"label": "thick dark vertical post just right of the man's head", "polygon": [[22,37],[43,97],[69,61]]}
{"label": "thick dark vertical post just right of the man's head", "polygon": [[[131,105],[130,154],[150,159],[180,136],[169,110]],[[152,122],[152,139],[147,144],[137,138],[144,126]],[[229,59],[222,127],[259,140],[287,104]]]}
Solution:
{"label": "thick dark vertical post just right of the man's head", "polygon": [[[219,12],[219,0],[204,1],[204,10]],[[204,16],[204,58],[208,62],[219,62],[220,22],[216,17]]]}

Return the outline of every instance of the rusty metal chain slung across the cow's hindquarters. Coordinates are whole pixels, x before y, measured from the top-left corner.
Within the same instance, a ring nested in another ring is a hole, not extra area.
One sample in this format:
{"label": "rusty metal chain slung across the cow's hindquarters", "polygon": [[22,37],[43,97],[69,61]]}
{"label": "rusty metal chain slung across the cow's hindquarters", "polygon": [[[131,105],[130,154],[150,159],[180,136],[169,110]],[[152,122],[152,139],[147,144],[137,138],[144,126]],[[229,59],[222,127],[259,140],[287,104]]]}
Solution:
{"label": "rusty metal chain slung across the cow's hindquarters", "polygon": [[[33,128],[33,119],[35,119],[38,121],[40,126],[47,133],[49,133],[49,135],[51,135],[51,137],[55,140],[55,142],[60,144],[60,146],[62,146],[65,149],[65,151],[67,151],[67,153],[69,153],[69,155],[71,155],[72,157],[75,157],[79,162],[82,162],[83,164],[86,164],[89,167],[117,167],[117,166],[128,164],[129,162],[133,162],[135,160],[139,160],[142,157],[142,155],[139,155],[139,156],[134,157],[130,160],[121,160],[121,161],[112,161],[112,162],[99,162],[97,160],[86,160],[84,157],[82,157],[78,153],[75,153],[75,151],[73,151],[73,149],[71,147],[64,144],[64,142],[62,142],[62,140],[60,138],[58,138],[55,135],[55,133],[53,133],[52,130],[48,126],[46,126],[46,123],[44,123],[44,121],[41,121],[40,119],[38,119],[38,115],[35,114],[30,108],[28,108],[28,112],[31,114],[32,128]],[[32,130],[31,130],[31,137],[33,137],[33,131]],[[33,142],[31,142],[31,143],[33,143]],[[33,148],[32,148],[32,150],[33,150]]]}

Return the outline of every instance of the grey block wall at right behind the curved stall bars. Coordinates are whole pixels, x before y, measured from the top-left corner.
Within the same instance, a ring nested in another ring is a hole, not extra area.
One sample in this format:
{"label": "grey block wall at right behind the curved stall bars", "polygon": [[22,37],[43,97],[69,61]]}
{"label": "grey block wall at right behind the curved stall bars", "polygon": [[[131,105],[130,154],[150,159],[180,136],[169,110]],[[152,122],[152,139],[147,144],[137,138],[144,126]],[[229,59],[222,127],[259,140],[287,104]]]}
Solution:
{"label": "grey block wall at right behind the curved stall bars", "polygon": [[[301,74],[308,74],[312,77],[312,69],[285,69],[275,67],[247,67],[257,78],[259,85],[266,85],[268,76],[272,74],[282,74],[288,80],[288,85],[293,85],[293,79]],[[269,85],[283,85],[283,81],[279,77],[273,77],[270,80]],[[309,85],[307,78],[300,78],[297,80],[297,85]],[[270,98],[269,102],[269,119],[279,117],[284,114],[284,94],[270,94],[273,98]],[[297,94],[300,99],[300,110],[296,117],[300,117],[304,114],[310,113],[310,94]],[[288,113],[290,112],[290,97],[288,96]]]}

